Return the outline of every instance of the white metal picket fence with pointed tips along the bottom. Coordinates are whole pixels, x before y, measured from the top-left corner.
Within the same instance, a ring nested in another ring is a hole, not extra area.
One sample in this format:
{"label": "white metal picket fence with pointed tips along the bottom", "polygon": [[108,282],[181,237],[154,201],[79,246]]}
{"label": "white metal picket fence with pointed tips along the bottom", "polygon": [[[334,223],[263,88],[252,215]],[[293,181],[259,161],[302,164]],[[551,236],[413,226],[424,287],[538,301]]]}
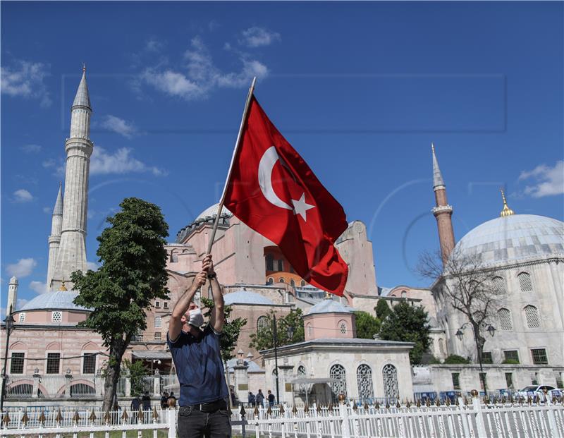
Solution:
{"label": "white metal picket fence with pointed tips along the bottom", "polygon": [[[99,411],[11,412],[2,419],[2,436],[76,438],[78,432],[118,430],[167,430],[176,437],[176,410],[130,413]],[[496,401],[482,403],[477,397],[455,404],[304,409],[256,408],[232,413],[233,432],[243,437],[283,438],[564,438],[562,401]],[[108,435],[106,434],[106,437]]]}

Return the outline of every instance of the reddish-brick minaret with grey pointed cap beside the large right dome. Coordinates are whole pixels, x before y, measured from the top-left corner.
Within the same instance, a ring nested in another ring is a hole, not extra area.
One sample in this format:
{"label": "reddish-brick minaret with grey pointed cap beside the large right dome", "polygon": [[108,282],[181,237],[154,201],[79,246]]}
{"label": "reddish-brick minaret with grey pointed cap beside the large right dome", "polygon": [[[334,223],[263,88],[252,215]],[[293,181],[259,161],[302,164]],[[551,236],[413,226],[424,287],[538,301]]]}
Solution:
{"label": "reddish-brick minaret with grey pointed cap beside the large right dome", "polygon": [[439,243],[441,244],[441,258],[444,265],[455,245],[452,221],[453,207],[448,205],[446,200],[446,186],[443,182],[441,169],[439,169],[439,162],[436,161],[433,143],[431,143],[431,151],[433,154],[433,190],[436,202],[436,207],[432,211],[439,227]]}

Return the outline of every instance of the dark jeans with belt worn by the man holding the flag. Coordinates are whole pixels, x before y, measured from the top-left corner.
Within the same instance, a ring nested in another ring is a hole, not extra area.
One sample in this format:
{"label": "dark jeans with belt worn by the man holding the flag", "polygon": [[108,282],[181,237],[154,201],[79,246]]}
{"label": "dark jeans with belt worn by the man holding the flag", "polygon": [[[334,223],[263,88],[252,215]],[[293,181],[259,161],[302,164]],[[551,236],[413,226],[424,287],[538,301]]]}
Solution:
{"label": "dark jeans with belt worn by the man holding the flag", "polygon": [[215,412],[180,406],[178,410],[179,438],[231,438],[231,418],[227,410]]}

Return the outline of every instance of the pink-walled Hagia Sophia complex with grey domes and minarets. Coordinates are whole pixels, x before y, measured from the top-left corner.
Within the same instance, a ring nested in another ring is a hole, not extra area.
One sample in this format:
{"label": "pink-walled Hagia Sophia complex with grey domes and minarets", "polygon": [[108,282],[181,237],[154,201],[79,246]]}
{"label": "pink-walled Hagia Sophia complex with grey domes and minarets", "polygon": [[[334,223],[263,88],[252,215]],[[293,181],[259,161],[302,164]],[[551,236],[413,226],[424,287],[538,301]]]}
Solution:
{"label": "pink-walled Hagia Sophia complex with grey domes and minarets", "polygon": [[[66,176],[59,187],[48,238],[49,291],[16,308],[18,279],[8,285],[16,329],[8,344],[7,403],[32,399],[54,401],[100,398],[100,370],[105,348],[93,331],[77,327],[90,310],[73,303],[78,291],[68,279],[86,269],[87,198],[92,104],[83,71],[71,107],[71,131],[65,142]],[[486,336],[484,373],[489,390],[518,389],[534,382],[563,387],[564,373],[564,223],[534,214],[518,214],[503,197],[500,212],[455,241],[446,183],[431,150],[439,244],[443,260],[453,251],[481,254],[486,269],[495,269],[496,287],[503,298],[496,309],[495,336]],[[431,188],[429,188],[431,200]],[[159,391],[173,387],[171,355],[166,348],[168,318],[178,296],[179,279],[195,276],[207,250],[218,205],[212,205],[176,234],[166,246],[168,300],[155,300],[147,312],[147,329],[135,336],[125,357],[142,360],[158,375]],[[497,216],[497,217],[496,217]],[[475,359],[470,329],[448,301],[448,284],[434,281],[429,288],[379,286],[371,241],[362,221],[351,221],[336,246],[350,274],[339,298],[309,286],[293,270],[281,251],[223,209],[212,254],[231,317],[246,318],[235,358],[230,360],[229,383],[246,401],[248,391],[276,386],[274,352],[250,348],[250,335],[278,317],[299,308],[304,315],[305,340],[278,348],[279,400],[329,403],[338,394],[350,399],[413,399],[414,393],[470,391],[477,386],[477,365],[410,365],[413,344],[359,339],[355,314],[374,315],[379,300],[390,305],[407,301],[429,314],[429,354],[443,360],[450,354]],[[445,281],[453,281],[446,276]],[[197,296],[196,300],[200,300]],[[2,345],[6,329],[2,326]],[[504,363],[511,359],[510,363]],[[475,362],[475,360],[474,360]],[[155,382],[153,379],[152,382]],[[168,386],[167,386],[168,385]],[[121,396],[129,396],[125,387]],[[17,398],[11,396],[17,395]],[[37,402],[37,400],[36,400]]]}

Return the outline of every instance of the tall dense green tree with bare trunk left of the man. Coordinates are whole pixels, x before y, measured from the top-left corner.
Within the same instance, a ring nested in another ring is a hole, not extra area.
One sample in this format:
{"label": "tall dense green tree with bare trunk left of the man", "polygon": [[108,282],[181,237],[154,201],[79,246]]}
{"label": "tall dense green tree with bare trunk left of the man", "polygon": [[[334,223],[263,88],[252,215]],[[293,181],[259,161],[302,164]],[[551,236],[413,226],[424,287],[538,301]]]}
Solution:
{"label": "tall dense green tree with bare trunk left of the man", "polygon": [[114,408],[123,353],[133,336],[147,328],[151,301],[168,298],[164,248],[168,225],[161,210],[135,197],[125,198],[120,207],[106,219],[110,225],[97,238],[99,269],[71,275],[80,292],[74,303],[92,309],[80,327],[97,331],[109,350],[103,410]]}

